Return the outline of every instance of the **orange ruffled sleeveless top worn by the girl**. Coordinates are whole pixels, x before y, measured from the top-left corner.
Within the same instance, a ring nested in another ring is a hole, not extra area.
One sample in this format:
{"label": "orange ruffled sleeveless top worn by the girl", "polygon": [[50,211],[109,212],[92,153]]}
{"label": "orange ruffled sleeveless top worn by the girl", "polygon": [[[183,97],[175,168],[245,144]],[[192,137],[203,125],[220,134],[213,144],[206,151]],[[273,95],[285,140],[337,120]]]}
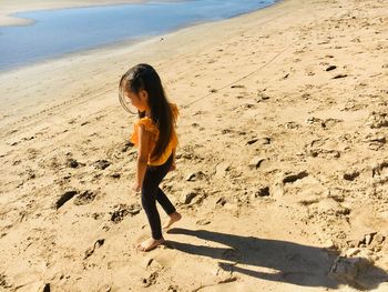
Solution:
{"label": "orange ruffled sleeveless top worn by the girl", "polygon": [[[174,125],[175,125],[176,119],[178,115],[178,110],[177,110],[176,104],[170,103],[170,105],[171,105],[171,110],[173,113],[173,120],[174,120]],[[139,147],[139,127],[140,125],[143,125],[144,130],[151,133],[151,139],[150,139],[150,144],[149,144],[150,157],[149,157],[147,164],[149,165],[162,165],[162,164],[164,164],[167,161],[167,159],[170,158],[170,155],[172,153],[175,153],[175,150],[177,147],[177,137],[176,137],[176,132],[174,129],[175,127],[173,128],[170,142],[169,142],[166,149],[164,150],[164,152],[159,158],[151,159],[151,153],[153,152],[153,150],[156,145],[156,141],[159,139],[159,129],[157,129],[156,124],[152,121],[151,118],[144,117],[144,118],[139,119],[139,121],[133,127],[133,133],[131,135],[131,142],[135,147]]]}

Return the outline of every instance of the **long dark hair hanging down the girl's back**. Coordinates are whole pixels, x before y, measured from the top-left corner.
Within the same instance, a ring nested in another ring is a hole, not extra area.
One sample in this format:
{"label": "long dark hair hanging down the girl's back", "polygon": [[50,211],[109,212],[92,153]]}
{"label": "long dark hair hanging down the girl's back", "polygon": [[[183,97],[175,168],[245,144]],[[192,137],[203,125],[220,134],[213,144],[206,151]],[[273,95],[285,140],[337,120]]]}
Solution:
{"label": "long dark hair hanging down the girl's back", "polygon": [[[145,90],[149,94],[147,103],[151,109],[151,119],[159,129],[159,139],[151,153],[152,158],[159,158],[169,145],[174,131],[174,119],[170,102],[164,93],[161,78],[149,64],[132,67],[120,80],[119,92],[130,91],[137,94]],[[139,118],[144,118],[145,112],[137,111]]]}

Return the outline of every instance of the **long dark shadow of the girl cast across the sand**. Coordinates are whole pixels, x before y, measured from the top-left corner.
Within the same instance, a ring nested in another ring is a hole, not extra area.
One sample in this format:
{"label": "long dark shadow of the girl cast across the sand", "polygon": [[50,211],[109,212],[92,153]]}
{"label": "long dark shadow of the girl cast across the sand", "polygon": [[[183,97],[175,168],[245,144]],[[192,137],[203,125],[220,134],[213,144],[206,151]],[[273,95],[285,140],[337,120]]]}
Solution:
{"label": "long dark shadow of the girl cast across the sand", "polygon": [[[218,265],[225,271],[263,280],[330,289],[338,288],[339,282],[343,282],[359,290],[377,288],[381,282],[388,280],[385,271],[374,266],[367,260],[358,258],[363,260],[361,262],[367,262],[368,264],[363,265],[363,270],[360,270],[360,266],[355,266],[353,270],[345,269],[346,271],[340,271],[343,274],[339,274],[339,278],[338,274],[336,276],[339,280],[338,282],[334,276],[330,276],[330,268],[338,258],[338,253],[321,248],[207,230],[175,228],[167,231],[167,233],[184,234],[224,244],[228,248],[212,248],[170,240],[166,242],[166,245],[171,249],[222,260]],[[239,265],[251,265],[252,270]],[[272,269],[276,272],[267,272],[263,268]],[[339,270],[344,269],[340,268]],[[357,274],[354,274],[355,272]]]}

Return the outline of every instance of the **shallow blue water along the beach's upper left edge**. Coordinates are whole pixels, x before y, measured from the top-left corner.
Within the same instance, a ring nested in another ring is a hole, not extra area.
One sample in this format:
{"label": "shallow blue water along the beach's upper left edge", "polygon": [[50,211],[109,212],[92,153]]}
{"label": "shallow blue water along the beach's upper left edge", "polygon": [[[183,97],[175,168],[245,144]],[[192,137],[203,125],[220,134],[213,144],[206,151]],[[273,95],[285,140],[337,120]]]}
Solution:
{"label": "shallow blue water along the beach's upper left edge", "polygon": [[125,40],[162,34],[198,22],[257,10],[275,0],[191,0],[17,13],[32,26],[0,27],[0,70]]}

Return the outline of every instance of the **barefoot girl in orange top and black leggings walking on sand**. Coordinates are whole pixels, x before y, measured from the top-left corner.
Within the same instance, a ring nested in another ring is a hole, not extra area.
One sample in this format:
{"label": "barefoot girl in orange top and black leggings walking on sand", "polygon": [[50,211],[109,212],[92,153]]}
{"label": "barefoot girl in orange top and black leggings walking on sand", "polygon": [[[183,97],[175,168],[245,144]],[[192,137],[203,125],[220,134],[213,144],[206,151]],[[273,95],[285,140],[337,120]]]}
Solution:
{"label": "barefoot girl in orange top and black leggings walking on sand", "polygon": [[140,243],[137,249],[150,251],[164,242],[156,201],[169,215],[163,228],[171,226],[182,218],[159,188],[167,172],[175,169],[177,108],[169,103],[159,74],[149,64],[131,68],[121,78],[119,92],[120,98],[129,99],[139,113],[131,137],[139,151],[133,189],[142,192],[142,205],[150,222],[152,238]]}

